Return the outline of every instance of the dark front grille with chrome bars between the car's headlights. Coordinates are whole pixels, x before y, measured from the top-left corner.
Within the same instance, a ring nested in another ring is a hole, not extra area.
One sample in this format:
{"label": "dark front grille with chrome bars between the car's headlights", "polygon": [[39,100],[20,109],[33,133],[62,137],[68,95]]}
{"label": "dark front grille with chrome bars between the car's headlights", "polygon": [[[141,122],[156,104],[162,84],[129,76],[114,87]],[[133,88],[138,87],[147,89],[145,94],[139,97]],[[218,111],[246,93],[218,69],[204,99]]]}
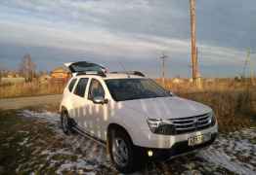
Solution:
{"label": "dark front grille with chrome bars between the car's headlights", "polygon": [[182,134],[209,127],[212,124],[212,116],[207,113],[189,118],[170,119],[169,121],[172,123],[172,127],[175,128],[175,134]]}

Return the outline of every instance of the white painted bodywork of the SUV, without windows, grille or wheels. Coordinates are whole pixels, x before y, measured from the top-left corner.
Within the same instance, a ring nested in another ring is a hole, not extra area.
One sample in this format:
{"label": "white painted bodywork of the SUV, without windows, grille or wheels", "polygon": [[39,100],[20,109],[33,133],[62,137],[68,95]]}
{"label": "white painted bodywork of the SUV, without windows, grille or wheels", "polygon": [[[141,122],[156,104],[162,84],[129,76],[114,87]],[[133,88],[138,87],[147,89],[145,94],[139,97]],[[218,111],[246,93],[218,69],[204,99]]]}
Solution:
{"label": "white painted bodywork of the SUV, without windows, grille or wheels", "polygon": [[[70,65],[70,64],[69,64]],[[131,78],[140,78],[139,76],[129,76]],[[107,126],[110,123],[116,123],[126,129],[134,145],[147,148],[171,148],[176,142],[188,140],[189,137],[204,133],[216,133],[218,131],[217,123],[207,129],[195,131],[180,135],[160,135],[154,134],[149,129],[147,119],[180,119],[192,117],[211,112],[211,108],[206,105],[187,100],[184,98],[158,97],[149,99],[129,100],[116,102],[112,99],[106,79],[127,79],[127,75],[109,74],[107,77],[82,75],[72,79],[88,78],[89,82],[85,90],[84,97],[79,97],[69,92],[67,87],[64,89],[64,99],[61,104],[61,110],[64,107],[69,117],[94,137],[107,141]],[[88,91],[92,79],[101,82],[105,89],[107,104],[95,104],[88,100]],[[76,81],[76,84],[77,82]]]}

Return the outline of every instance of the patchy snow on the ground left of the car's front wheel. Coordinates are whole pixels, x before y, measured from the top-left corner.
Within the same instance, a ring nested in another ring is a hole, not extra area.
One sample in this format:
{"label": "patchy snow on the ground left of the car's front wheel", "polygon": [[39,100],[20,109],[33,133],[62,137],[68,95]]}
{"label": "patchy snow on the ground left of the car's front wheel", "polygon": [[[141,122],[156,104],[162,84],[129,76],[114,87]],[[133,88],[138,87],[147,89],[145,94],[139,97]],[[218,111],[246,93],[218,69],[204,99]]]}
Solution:
{"label": "patchy snow on the ground left of the car's front wheel", "polygon": [[[48,111],[39,113],[23,110],[21,111],[21,116],[49,123],[49,126],[63,139],[64,148],[58,150],[46,149],[40,153],[42,157],[48,159],[49,166],[58,166],[57,174],[73,172],[76,174],[93,175],[96,172],[101,172],[101,168],[103,167],[114,171],[109,159],[106,157],[106,149],[103,146],[79,134],[65,135],[63,133],[59,114]],[[70,158],[61,158],[59,160],[56,157]]]}

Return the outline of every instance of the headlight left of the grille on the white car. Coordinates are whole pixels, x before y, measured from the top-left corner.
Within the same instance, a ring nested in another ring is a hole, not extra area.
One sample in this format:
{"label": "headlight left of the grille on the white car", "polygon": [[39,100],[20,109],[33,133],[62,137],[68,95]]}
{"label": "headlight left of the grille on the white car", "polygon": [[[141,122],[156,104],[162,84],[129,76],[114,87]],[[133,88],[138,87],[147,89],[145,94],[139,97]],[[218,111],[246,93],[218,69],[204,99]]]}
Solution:
{"label": "headlight left of the grille on the white car", "polygon": [[170,121],[148,119],[148,124],[152,133],[163,135],[171,135],[175,133],[175,126]]}

